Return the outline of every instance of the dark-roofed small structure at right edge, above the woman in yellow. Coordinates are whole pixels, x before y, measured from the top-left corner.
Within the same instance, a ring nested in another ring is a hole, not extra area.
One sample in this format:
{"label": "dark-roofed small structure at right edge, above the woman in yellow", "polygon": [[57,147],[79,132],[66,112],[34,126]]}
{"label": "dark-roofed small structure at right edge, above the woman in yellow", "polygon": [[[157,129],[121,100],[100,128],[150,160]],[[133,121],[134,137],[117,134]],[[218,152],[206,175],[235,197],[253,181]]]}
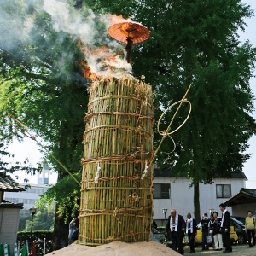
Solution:
{"label": "dark-roofed small structure at right edge, above the woman in yellow", "polygon": [[225,204],[232,207],[234,216],[246,217],[247,211],[256,210],[256,189],[241,188],[239,193],[232,196]]}

